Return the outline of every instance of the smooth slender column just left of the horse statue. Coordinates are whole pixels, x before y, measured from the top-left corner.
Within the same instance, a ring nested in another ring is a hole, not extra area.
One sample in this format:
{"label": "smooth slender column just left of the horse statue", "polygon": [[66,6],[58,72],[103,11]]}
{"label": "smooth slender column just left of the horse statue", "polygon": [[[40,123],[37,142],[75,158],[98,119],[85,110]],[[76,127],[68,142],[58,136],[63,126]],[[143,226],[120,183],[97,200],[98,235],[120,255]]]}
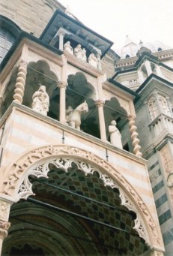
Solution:
{"label": "smooth slender column just left of the horse statue", "polygon": [[60,122],[66,122],[65,119],[65,110],[66,110],[66,104],[65,104],[65,91],[67,88],[67,83],[65,82],[59,82],[58,88],[60,90],[60,99],[59,99],[59,121]]}

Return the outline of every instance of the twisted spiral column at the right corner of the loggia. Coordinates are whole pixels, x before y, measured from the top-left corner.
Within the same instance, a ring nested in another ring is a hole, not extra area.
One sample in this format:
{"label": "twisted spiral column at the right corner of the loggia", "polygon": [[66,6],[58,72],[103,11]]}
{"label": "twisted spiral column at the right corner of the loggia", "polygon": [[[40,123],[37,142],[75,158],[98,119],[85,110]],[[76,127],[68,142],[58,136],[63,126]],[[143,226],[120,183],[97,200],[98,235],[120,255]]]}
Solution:
{"label": "twisted spiral column at the right corner of the loggia", "polygon": [[130,134],[131,134],[131,139],[132,139],[132,145],[133,145],[133,152],[135,155],[142,157],[142,152],[141,146],[139,145],[139,134],[136,132],[137,127],[136,127],[136,122],[135,122],[135,117],[134,116],[128,116],[129,120],[129,128],[130,128]]}

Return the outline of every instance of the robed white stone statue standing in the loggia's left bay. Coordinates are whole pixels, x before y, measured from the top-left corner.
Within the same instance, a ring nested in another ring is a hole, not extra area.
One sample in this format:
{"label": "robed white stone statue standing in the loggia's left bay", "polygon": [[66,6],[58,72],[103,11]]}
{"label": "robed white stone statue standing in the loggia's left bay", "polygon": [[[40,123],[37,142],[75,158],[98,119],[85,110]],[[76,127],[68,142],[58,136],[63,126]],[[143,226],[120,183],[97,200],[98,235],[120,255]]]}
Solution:
{"label": "robed white stone statue standing in the loggia's left bay", "polygon": [[49,111],[49,95],[46,93],[46,86],[40,85],[38,91],[34,92],[31,108],[47,116]]}

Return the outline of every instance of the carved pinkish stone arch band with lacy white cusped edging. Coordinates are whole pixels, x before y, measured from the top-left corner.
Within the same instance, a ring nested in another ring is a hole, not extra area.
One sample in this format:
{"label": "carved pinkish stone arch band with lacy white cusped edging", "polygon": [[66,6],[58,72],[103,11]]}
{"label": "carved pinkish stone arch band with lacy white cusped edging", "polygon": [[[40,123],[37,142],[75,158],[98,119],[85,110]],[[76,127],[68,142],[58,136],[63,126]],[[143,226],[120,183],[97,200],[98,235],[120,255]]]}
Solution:
{"label": "carved pinkish stone arch band with lacy white cusped edging", "polygon": [[136,212],[135,227],[148,245],[163,248],[160,230],[154,222],[147,206],[142,201],[135,189],[124,179],[124,176],[115,170],[109,162],[104,161],[91,152],[71,146],[43,146],[33,149],[22,155],[15,163],[10,164],[4,171],[1,197],[4,195],[11,201],[26,199],[33,194],[31,182],[28,176],[48,177],[49,164],[61,168],[67,172],[71,164],[82,170],[85,175],[97,171],[100,179],[106,186],[118,188],[120,191],[121,204],[127,209]]}

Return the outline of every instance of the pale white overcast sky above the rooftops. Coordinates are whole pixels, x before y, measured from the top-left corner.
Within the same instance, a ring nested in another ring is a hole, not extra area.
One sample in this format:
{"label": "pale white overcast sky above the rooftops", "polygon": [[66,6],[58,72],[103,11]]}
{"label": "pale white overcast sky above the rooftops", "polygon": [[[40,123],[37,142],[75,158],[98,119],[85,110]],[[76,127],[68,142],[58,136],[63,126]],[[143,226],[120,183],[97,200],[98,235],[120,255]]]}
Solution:
{"label": "pale white overcast sky above the rooftops", "polygon": [[85,26],[124,46],[127,35],[136,44],[162,41],[173,48],[173,0],[58,0]]}

